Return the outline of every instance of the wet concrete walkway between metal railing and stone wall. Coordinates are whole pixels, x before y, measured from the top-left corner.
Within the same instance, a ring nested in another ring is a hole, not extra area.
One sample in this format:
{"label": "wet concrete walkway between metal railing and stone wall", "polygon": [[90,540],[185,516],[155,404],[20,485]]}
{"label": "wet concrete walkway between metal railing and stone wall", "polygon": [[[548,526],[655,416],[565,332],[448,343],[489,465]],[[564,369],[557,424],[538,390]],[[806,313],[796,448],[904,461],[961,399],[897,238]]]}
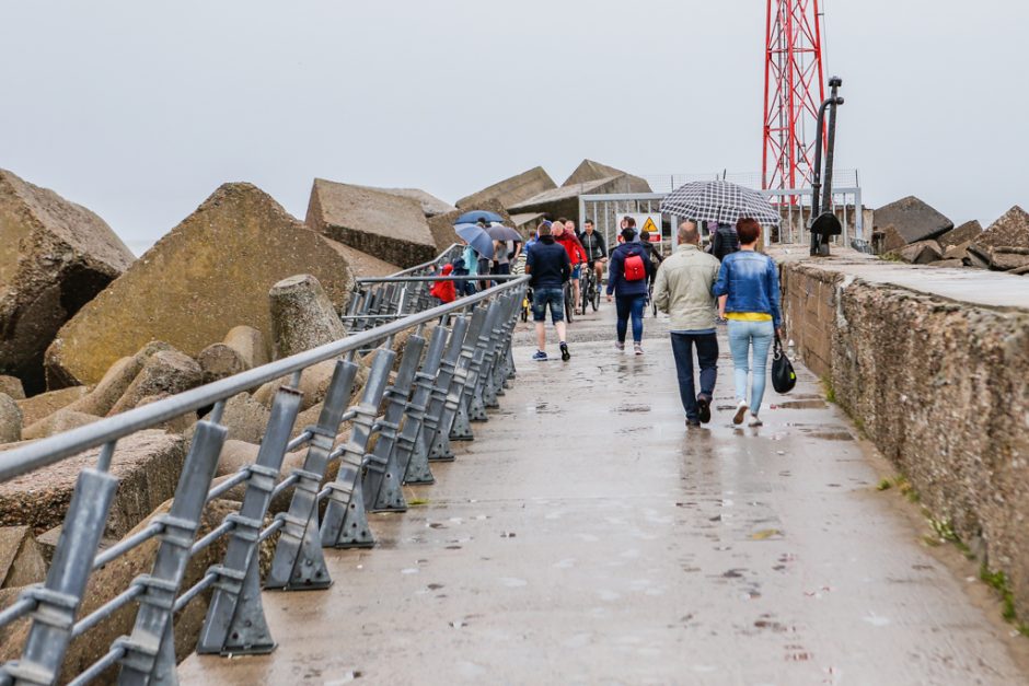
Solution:
{"label": "wet concrete walkway between metal railing and stone wall", "polygon": [[530,361],[520,325],[517,383],[407,489],[426,504],[326,551],[329,591],[266,592],[275,653],[194,655],[182,683],[1027,683],[811,374],[736,428],[722,336],[715,417],[687,430],[667,326],[637,358],[612,312],[573,325],[567,363]]}

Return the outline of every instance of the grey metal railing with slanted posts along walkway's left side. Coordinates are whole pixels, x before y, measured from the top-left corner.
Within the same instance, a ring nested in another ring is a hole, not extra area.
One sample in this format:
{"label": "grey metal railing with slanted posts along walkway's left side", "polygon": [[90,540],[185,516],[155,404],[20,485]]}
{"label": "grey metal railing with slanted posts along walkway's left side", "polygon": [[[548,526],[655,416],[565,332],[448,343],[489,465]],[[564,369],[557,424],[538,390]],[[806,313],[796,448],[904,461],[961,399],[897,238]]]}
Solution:
{"label": "grey metal railing with slanted posts along walkway's left side", "polygon": [[[261,603],[259,544],[278,533],[265,589],[327,588],[332,579],[322,548],[372,546],[367,512],[405,510],[402,485],[431,482],[430,463],[453,460],[451,441],[473,438],[471,422],[487,419],[486,409],[498,406],[514,375],[511,338],[528,277],[437,306],[429,277],[455,249],[393,277],[358,280],[346,315],[356,333],[347,338],[0,455],[4,481],[101,446],[95,467],[78,476],[46,581],[0,613],[0,629],[22,617],[31,623],[21,659],[0,667],[0,684],[56,683],[72,639],[131,604],[137,612],[130,635],[70,683],[109,678],[117,670],[120,684],[174,684],[173,615],[208,590],[198,652],[273,650]],[[404,332],[412,333],[397,361],[394,338]],[[361,368],[357,354],[372,348],[363,389],[351,399]],[[326,360],[336,362],[317,422],[290,440],[303,400],[301,373]],[[228,434],[221,423],[226,402],[287,377],[275,394],[256,460],[212,487]],[[196,425],[167,513],[100,551],[118,486],[111,474],[118,440],[211,406]],[[344,421],[350,431],[337,442]],[[302,467],[284,474],[287,452],[301,447]],[[337,475],[329,481],[335,462]],[[232,489],[243,489],[239,509],[198,539],[206,505]],[[289,496],[290,489],[289,507],[266,524],[273,497]],[[151,571],[80,617],[91,573],[154,538]],[[221,563],[182,588],[189,560],[221,538]]]}

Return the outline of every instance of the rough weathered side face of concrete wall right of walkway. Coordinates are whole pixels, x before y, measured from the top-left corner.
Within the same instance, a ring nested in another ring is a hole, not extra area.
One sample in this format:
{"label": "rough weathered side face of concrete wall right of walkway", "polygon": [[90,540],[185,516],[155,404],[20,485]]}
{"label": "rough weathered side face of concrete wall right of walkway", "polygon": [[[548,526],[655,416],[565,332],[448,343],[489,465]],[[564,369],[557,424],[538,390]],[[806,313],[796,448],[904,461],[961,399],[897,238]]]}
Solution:
{"label": "rough weathered side face of concrete wall right of walkway", "polygon": [[[1029,621],[1029,310],[783,266],[788,335]],[[869,532],[875,535],[875,532]]]}

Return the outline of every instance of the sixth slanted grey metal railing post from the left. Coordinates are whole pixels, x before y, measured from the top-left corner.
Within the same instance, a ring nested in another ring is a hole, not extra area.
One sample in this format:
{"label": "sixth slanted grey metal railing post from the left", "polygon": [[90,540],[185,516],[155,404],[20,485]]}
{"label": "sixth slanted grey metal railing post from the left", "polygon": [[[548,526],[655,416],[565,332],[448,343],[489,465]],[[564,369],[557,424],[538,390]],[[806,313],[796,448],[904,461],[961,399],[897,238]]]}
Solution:
{"label": "sixth slanted grey metal railing post from the left", "polygon": [[407,502],[404,500],[402,479],[404,473],[396,463],[396,439],[400,435],[401,422],[407,409],[407,398],[411,397],[411,384],[415,379],[415,370],[421,360],[425,349],[425,338],[412,335],[404,346],[401,356],[401,367],[396,373],[393,385],[385,391],[386,410],[379,420],[379,440],[375,449],[368,457],[365,470],[365,507],[371,512],[404,512]]}

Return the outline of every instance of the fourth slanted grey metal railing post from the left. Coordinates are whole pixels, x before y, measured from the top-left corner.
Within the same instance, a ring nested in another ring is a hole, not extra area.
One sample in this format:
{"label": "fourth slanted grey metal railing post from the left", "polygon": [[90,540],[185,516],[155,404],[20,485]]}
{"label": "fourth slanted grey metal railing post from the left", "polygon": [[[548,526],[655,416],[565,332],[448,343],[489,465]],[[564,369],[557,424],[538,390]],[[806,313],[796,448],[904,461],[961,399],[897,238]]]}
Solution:
{"label": "fourth slanted grey metal railing post from the left", "polygon": [[312,439],[303,467],[293,472],[298,481],[289,510],[278,514],[285,524],[265,581],[267,589],[327,589],[333,583],[317,535],[317,493],[350,400],[357,370],[354,362],[336,362],[317,425],[307,429]]}

